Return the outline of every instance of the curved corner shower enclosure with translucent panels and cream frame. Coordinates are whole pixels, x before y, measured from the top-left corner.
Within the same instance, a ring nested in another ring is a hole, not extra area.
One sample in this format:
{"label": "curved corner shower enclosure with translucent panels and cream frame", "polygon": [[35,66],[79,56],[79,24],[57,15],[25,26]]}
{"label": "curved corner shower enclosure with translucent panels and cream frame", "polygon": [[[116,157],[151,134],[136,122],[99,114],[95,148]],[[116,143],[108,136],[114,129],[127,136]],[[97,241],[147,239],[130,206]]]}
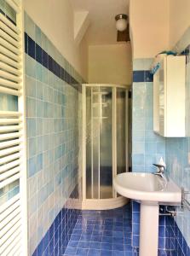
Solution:
{"label": "curved corner shower enclosure with translucent panels and cream frame", "polygon": [[128,172],[126,86],[83,84],[83,209],[123,206],[112,179]]}

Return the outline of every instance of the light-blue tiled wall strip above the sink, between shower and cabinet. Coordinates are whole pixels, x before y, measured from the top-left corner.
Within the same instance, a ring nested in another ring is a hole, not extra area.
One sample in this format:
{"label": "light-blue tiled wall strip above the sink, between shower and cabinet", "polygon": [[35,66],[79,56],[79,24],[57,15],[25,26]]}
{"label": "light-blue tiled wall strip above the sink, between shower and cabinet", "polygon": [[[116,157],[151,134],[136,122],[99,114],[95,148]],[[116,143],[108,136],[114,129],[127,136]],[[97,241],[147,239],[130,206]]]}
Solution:
{"label": "light-blue tiled wall strip above the sink, between shower and cabinet", "polygon": [[153,59],[133,62],[132,166],[133,172],[154,172],[153,163],[165,157],[165,141],[153,132]]}

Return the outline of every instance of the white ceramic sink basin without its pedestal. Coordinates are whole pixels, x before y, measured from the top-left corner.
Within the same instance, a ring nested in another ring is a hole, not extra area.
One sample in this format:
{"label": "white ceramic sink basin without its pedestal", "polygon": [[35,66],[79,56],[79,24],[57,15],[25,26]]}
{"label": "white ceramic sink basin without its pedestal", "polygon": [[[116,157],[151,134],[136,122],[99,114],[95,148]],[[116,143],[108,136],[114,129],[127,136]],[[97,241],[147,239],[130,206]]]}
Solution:
{"label": "white ceramic sink basin without its pedestal", "polygon": [[113,180],[118,194],[138,201],[176,204],[181,202],[181,189],[170,180],[152,173],[124,172]]}

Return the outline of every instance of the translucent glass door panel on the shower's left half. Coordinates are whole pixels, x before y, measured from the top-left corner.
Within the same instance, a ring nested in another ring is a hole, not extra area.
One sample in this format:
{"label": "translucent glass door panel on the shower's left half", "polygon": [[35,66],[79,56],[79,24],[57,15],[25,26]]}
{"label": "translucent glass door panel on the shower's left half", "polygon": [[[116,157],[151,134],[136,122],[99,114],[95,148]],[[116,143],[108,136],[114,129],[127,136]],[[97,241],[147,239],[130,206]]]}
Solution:
{"label": "translucent glass door panel on the shower's left half", "polygon": [[86,88],[86,193],[112,197],[112,88]]}

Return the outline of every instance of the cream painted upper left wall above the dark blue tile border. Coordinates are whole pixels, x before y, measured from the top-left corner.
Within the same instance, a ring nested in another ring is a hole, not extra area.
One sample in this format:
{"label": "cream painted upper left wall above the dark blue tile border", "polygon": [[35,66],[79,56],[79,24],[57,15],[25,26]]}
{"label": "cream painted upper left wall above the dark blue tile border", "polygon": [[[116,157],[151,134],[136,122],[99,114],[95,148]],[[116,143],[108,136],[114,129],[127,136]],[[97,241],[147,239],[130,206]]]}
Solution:
{"label": "cream painted upper left wall above the dark blue tile border", "polygon": [[66,60],[76,68],[83,79],[87,79],[87,43],[85,38],[79,45],[74,42],[74,19],[69,0],[24,0],[24,7]]}

